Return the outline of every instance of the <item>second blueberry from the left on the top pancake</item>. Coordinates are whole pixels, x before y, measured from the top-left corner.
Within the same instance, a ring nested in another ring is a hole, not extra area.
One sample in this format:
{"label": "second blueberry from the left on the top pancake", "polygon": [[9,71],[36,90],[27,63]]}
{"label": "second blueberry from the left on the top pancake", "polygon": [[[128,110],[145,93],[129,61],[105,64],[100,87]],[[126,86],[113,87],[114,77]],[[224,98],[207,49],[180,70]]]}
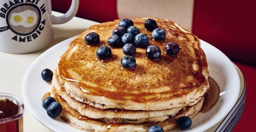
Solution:
{"label": "second blueberry from the left on the top pancake", "polygon": [[109,59],[112,56],[111,49],[108,46],[101,46],[97,49],[96,56],[102,60]]}

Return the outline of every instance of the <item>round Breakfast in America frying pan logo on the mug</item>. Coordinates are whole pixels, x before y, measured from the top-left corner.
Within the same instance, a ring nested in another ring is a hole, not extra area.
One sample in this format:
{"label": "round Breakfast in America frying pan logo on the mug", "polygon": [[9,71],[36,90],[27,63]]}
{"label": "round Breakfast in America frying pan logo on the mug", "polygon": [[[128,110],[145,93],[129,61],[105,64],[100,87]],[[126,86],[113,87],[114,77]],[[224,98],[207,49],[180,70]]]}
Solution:
{"label": "round Breakfast in America frying pan logo on the mug", "polygon": [[6,26],[0,27],[0,32],[11,30],[15,35],[12,40],[29,42],[41,34],[46,20],[41,15],[46,12],[45,5],[37,6],[39,0],[14,0],[3,4],[0,8],[0,17],[6,19]]}

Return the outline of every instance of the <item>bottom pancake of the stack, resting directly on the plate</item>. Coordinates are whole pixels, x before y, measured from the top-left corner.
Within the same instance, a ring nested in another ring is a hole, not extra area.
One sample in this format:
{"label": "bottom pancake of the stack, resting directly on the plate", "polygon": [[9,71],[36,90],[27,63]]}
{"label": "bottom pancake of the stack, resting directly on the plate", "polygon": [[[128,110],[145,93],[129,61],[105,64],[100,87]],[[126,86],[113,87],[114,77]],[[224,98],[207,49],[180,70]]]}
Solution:
{"label": "bottom pancake of the stack, resting directly on the plate", "polygon": [[82,116],[79,112],[72,109],[66,100],[59,97],[60,93],[52,85],[51,96],[55,97],[56,100],[62,105],[61,119],[66,121],[70,126],[75,127],[87,132],[148,132],[148,129],[151,125],[160,125],[163,127],[164,131],[168,131],[177,127],[177,118],[180,116],[188,116],[193,118],[195,115],[200,112],[201,107],[204,103],[204,97],[198,101],[194,106],[186,107],[186,114],[184,110],[180,110],[177,115],[172,118],[168,118],[162,122],[151,122],[151,123],[119,123],[111,124],[104,123],[100,120],[95,120]]}

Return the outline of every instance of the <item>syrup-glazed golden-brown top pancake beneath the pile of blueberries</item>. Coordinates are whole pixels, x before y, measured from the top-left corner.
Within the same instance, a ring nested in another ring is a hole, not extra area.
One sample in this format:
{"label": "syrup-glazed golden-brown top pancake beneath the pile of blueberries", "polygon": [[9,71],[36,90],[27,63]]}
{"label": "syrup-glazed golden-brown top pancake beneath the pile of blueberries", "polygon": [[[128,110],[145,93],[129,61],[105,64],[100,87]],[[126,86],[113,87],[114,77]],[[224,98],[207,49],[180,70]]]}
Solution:
{"label": "syrup-glazed golden-brown top pancake beneath the pile of blueberries", "polygon": [[[191,100],[207,92],[209,76],[207,59],[198,37],[170,20],[154,18],[158,28],[166,32],[163,42],[154,41],[151,31],[145,30],[146,18],[131,19],[140,32],[147,34],[149,45],[158,46],[159,60],[145,57],[145,48],[137,47],[134,69],[122,69],[122,48],[111,47],[112,57],[100,60],[96,50],[108,45],[108,38],[119,20],[93,25],[73,40],[58,63],[60,83],[83,100],[102,105],[101,109],[160,110],[187,106]],[[99,45],[87,45],[89,32],[99,34]],[[176,57],[164,53],[166,43],[180,47]]]}

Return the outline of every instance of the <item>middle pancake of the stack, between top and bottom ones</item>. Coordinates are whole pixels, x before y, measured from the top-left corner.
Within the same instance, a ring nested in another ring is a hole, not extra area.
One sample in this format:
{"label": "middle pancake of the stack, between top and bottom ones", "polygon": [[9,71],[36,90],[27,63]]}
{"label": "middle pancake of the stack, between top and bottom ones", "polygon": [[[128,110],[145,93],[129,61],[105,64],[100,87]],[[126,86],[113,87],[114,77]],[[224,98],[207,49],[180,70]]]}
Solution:
{"label": "middle pancake of the stack, between top and bottom ones", "polygon": [[[58,82],[56,70],[52,77],[52,89],[56,89],[58,97],[63,98],[68,105],[79,112],[82,116],[101,120],[105,123],[144,123],[160,122],[174,117],[183,107],[163,109],[156,111],[125,110],[125,109],[98,109],[86,103],[79,102],[72,98]],[[201,98],[200,98],[201,99]]]}

